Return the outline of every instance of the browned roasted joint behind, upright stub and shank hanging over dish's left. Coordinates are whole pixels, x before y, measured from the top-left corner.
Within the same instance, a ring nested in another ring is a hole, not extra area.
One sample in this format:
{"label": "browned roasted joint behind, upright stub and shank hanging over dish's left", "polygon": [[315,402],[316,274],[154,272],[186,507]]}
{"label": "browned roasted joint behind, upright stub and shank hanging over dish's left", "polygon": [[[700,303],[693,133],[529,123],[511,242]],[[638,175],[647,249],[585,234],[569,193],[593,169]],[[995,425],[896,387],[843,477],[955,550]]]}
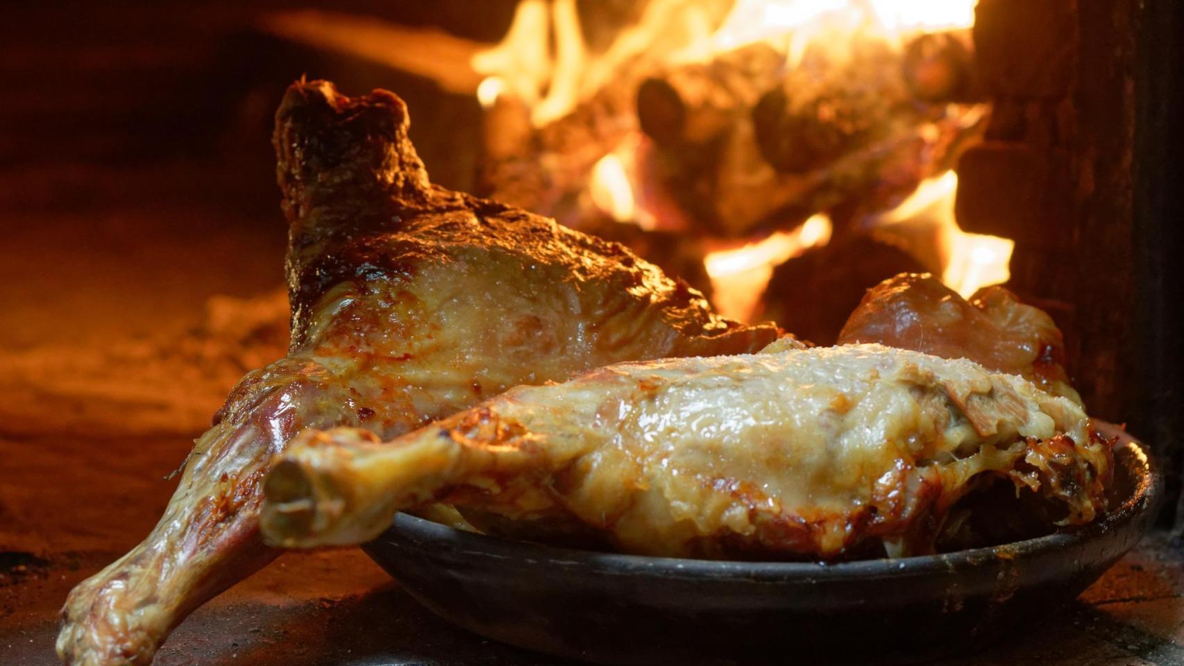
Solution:
{"label": "browned roasted joint behind, upright stub and shank hanging over dish's left", "polygon": [[390,92],[289,89],[275,146],[291,349],[231,393],[152,535],[70,594],[66,664],[147,664],[188,612],[275,557],[259,481],[304,428],[392,438],[516,384],[777,337],[619,245],[430,185],[406,132]]}

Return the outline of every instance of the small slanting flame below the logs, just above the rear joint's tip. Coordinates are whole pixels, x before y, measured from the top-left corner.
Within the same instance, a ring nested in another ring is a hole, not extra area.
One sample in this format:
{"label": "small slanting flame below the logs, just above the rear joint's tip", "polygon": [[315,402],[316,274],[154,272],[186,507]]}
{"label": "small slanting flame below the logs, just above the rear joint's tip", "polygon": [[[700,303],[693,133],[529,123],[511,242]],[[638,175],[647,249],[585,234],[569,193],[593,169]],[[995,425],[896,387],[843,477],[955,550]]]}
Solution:
{"label": "small slanting flame below the logs, just above the rear joint's tip", "polygon": [[819,213],[792,232],[776,232],[744,247],[712,252],[703,259],[712,278],[712,300],[725,316],[748,321],[773,269],[830,240],[830,218]]}

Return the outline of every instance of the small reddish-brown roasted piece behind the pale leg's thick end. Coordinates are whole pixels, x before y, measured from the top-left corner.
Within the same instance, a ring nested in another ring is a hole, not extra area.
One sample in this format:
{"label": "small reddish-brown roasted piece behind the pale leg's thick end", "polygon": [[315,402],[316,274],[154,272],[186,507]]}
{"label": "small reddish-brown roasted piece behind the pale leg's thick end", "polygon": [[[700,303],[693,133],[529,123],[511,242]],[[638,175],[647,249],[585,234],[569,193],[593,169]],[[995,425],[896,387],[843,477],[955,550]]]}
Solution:
{"label": "small reddish-brown roasted piece behind the pale leg's thick end", "polygon": [[869,289],[838,334],[837,344],[861,342],[970,358],[1081,405],[1053,317],[1002,286],[980,289],[966,300],[928,273],[901,273]]}

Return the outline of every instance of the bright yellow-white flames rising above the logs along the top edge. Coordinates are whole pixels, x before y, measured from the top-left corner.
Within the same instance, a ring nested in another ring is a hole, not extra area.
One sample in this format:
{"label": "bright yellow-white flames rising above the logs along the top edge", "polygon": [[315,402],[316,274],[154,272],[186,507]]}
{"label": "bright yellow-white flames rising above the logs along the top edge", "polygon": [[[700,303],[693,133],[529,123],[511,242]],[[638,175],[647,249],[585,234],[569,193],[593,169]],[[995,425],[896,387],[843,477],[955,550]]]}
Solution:
{"label": "bright yellow-white flames rising above the logs along the top edge", "polygon": [[[502,79],[502,90],[530,106],[542,127],[639,63],[704,60],[755,41],[786,53],[792,66],[810,45],[868,35],[900,45],[934,30],[966,28],[977,0],[738,0],[723,18],[719,2],[652,0],[636,24],[593,57],[575,0],[521,0],[506,37],[476,53],[474,71]],[[714,20],[713,20],[714,18]],[[712,30],[712,25],[719,27]]]}

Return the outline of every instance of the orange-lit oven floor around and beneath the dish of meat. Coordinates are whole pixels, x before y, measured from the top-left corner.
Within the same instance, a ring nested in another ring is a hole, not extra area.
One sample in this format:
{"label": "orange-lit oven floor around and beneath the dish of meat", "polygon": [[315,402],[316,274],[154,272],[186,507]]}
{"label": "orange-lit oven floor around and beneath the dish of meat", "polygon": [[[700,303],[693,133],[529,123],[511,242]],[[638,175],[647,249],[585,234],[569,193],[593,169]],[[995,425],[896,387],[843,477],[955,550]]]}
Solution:
{"label": "orange-lit oven floor around and beneath the dish of meat", "polygon": [[[117,177],[155,192],[166,176]],[[66,593],[147,534],[175,485],[163,477],[243,367],[282,349],[252,319],[268,319],[279,287],[275,208],[194,192],[50,199],[13,208],[0,261],[0,664],[12,666],[57,662]],[[215,295],[257,300],[211,313]],[[1062,617],[955,662],[1184,665],[1184,551],[1152,535]],[[194,613],[155,664],[555,661],[445,623],[343,550],[285,555]]]}

